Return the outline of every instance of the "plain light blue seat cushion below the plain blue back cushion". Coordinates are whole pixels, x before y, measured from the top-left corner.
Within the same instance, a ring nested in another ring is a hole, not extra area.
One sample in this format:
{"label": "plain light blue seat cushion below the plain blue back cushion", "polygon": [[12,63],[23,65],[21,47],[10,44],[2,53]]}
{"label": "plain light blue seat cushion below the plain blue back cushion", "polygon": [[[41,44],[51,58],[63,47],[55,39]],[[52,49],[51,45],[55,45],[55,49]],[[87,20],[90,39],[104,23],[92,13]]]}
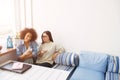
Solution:
{"label": "plain light blue seat cushion below the plain blue back cushion", "polygon": [[70,80],[105,80],[104,73],[77,67]]}

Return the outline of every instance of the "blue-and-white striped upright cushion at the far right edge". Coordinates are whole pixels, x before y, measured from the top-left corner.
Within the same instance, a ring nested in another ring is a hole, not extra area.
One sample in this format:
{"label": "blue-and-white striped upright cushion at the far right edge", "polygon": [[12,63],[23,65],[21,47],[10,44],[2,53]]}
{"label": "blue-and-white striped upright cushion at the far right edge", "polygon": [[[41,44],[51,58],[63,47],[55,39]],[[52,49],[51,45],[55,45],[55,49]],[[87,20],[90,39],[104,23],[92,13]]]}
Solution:
{"label": "blue-and-white striped upright cushion at the far right edge", "polygon": [[110,56],[108,60],[108,72],[120,73],[119,69],[119,57],[118,56]]}

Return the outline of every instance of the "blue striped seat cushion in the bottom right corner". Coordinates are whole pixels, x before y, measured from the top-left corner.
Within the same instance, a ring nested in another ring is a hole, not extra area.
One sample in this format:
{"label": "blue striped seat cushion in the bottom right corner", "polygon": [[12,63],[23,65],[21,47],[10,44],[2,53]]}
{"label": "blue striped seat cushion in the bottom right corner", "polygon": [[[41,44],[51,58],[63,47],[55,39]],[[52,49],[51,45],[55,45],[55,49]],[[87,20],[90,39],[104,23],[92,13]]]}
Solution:
{"label": "blue striped seat cushion in the bottom right corner", "polygon": [[120,80],[120,74],[107,72],[105,80]]}

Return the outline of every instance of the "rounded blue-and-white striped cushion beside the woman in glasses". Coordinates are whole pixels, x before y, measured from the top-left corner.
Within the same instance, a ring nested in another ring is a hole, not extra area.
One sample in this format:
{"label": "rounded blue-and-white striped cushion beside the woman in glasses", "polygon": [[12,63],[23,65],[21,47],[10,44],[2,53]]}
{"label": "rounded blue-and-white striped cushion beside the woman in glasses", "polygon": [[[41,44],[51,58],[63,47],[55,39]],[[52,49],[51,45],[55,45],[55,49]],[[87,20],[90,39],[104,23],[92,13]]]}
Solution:
{"label": "rounded blue-and-white striped cushion beside the woman in glasses", "polygon": [[61,53],[56,57],[55,63],[69,66],[78,66],[79,57],[76,53]]}

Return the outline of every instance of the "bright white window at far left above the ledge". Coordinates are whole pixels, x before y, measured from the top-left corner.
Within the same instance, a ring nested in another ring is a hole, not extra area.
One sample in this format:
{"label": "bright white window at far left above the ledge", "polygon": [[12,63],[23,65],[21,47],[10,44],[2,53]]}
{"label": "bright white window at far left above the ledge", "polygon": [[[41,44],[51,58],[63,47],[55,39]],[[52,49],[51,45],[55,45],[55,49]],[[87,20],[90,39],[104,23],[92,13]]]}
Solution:
{"label": "bright white window at far left above the ledge", "polygon": [[[0,0],[0,45],[6,49],[6,40],[15,31],[14,0]],[[1,52],[1,51],[0,51]]]}

